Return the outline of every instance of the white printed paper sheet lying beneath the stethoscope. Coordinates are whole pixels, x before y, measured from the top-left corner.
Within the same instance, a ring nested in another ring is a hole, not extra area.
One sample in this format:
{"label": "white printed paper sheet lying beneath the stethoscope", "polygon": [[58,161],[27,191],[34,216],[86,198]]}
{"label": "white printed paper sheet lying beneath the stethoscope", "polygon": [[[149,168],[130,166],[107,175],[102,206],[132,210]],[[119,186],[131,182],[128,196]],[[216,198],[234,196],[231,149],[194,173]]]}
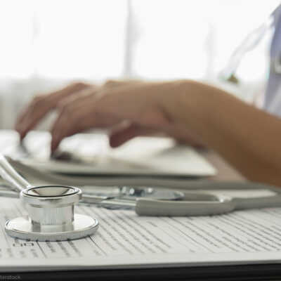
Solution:
{"label": "white printed paper sheet lying beneath the stethoscope", "polygon": [[[230,193],[235,195],[233,190]],[[259,193],[250,190],[243,195]],[[96,234],[81,240],[32,242],[4,233],[5,221],[27,214],[25,207],[17,199],[3,197],[0,206],[1,272],[281,261],[281,208],[222,216],[157,218],[80,205],[77,213],[100,221]]]}

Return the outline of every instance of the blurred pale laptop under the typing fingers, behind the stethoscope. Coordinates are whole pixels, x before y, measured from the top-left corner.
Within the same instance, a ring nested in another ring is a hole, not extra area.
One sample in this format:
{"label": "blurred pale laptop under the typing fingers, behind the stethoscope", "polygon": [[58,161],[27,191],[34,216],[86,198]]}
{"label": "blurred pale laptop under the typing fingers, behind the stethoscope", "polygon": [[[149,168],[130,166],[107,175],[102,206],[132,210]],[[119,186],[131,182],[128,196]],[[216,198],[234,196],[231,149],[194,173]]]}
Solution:
{"label": "blurred pale laptop under the typing fingers, behind the stethoscope", "polygon": [[32,131],[20,144],[15,131],[0,131],[0,152],[37,169],[84,175],[214,176],[216,169],[191,147],[171,138],[137,137],[110,148],[103,133],[65,138],[51,157],[51,135]]}

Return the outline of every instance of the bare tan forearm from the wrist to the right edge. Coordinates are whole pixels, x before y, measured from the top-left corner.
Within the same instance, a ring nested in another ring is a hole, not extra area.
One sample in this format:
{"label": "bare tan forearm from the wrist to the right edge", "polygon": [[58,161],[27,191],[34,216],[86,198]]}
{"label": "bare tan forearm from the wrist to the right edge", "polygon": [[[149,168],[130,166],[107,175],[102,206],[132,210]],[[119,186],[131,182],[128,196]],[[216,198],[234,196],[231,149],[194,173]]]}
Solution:
{"label": "bare tan forearm from the wrist to the right edge", "polygon": [[190,126],[247,178],[281,185],[281,119],[195,81],[178,82],[167,112]]}

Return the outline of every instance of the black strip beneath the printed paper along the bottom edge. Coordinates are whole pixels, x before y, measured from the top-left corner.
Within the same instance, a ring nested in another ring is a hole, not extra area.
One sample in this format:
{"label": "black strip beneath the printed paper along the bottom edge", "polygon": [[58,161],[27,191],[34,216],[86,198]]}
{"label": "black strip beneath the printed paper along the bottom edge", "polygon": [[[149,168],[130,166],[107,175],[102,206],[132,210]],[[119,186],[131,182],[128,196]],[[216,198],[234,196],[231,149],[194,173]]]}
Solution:
{"label": "black strip beneath the printed paper along the bottom edge", "polygon": [[279,264],[245,266],[209,266],[194,268],[146,268],[119,270],[81,270],[55,271],[41,273],[11,274],[20,276],[20,280],[99,280],[99,281],[280,281]]}

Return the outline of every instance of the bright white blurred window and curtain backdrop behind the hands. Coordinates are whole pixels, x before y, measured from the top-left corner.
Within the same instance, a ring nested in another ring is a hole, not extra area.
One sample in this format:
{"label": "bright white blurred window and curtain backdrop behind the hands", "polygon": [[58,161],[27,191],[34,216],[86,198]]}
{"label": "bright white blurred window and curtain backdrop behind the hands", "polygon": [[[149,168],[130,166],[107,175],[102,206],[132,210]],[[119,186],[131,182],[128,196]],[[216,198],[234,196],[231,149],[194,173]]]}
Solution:
{"label": "bright white blurred window and curtain backdrop behind the hands", "polygon": [[70,81],[197,79],[252,102],[268,72],[268,30],[237,77],[221,69],[278,0],[0,0],[0,129]]}

